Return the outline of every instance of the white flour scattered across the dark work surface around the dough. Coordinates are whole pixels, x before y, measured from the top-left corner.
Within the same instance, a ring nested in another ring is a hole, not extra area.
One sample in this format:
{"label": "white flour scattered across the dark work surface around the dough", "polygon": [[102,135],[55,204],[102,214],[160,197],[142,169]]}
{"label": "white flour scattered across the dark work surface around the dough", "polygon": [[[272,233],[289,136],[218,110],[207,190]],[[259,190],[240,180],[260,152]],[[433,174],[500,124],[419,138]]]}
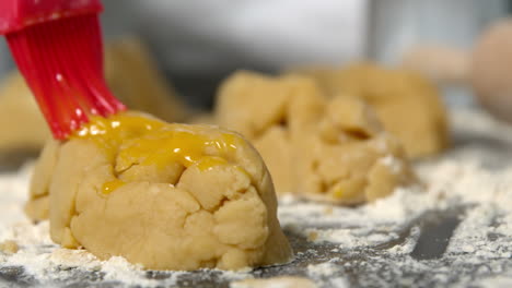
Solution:
{"label": "white flour scattered across the dark work surface around the dough", "polygon": [[[281,225],[309,239],[311,248],[298,253],[289,267],[275,271],[309,277],[319,287],[512,287],[512,130],[479,112],[457,111],[453,117],[456,134],[474,141],[418,165],[424,189],[400,189],[358,208],[283,197]],[[48,238],[47,223],[32,225],[24,218],[28,173],[30,167],[0,176],[0,243],[13,240],[20,248],[14,254],[0,252],[0,269],[22,266],[33,281],[47,285],[66,283],[77,272],[141,286],[172,286],[190,275],[174,272],[150,279],[124,259],[101,262],[85,251],[57,248]],[[442,257],[410,256],[421,235],[419,219],[454,208],[465,213]],[[216,279],[236,280],[258,273],[216,272]]]}

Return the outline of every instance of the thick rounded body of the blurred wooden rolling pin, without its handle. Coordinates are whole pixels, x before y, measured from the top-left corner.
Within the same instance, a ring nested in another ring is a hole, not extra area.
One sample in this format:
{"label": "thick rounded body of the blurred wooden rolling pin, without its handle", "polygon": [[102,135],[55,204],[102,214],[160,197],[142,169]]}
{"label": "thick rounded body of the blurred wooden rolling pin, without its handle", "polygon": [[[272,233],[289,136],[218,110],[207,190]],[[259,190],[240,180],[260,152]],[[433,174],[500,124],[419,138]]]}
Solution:
{"label": "thick rounded body of the blurred wooden rolling pin, without its handle", "polygon": [[477,41],[470,77],[479,101],[512,122],[512,20],[491,26]]}

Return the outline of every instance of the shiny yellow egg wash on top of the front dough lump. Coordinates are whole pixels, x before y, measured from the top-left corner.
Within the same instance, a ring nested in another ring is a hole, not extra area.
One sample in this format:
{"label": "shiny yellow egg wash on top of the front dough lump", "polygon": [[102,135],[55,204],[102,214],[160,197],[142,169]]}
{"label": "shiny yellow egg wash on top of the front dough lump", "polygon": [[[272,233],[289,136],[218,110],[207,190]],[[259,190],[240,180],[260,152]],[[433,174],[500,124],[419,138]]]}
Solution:
{"label": "shiny yellow egg wash on top of the front dough lump", "polygon": [[[123,112],[109,118],[93,117],[71,139],[93,140],[112,163],[156,166],[178,163],[201,170],[226,165],[229,155],[244,144],[235,133],[205,133],[205,127],[165,123],[140,113]],[[121,180],[104,183],[103,193],[124,185]]]}

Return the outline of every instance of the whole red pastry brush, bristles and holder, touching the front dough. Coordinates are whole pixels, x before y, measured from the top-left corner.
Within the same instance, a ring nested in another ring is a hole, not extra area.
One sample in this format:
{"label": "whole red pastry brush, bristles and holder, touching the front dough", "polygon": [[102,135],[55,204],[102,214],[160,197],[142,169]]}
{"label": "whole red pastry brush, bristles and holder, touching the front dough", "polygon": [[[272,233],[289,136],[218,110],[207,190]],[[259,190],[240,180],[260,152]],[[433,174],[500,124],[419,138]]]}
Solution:
{"label": "whole red pastry brush, bristles and holder, touching the front dough", "polygon": [[0,0],[0,34],[56,139],[126,109],[105,83],[102,10],[98,0]]}

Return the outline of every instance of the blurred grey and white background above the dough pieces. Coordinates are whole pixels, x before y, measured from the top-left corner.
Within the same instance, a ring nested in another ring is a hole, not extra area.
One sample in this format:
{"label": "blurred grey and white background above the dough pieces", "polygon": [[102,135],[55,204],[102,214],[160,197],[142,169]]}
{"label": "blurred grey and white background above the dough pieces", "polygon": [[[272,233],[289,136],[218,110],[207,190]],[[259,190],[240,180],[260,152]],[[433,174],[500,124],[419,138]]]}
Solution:
{"label": "blurred grey and white background above the dough pieces", "polygon": [[[462,50],[512,11],[511,0],[104,1],[106,39],[137,35],[185,100],[208,108],[237,69],[274,72],[372,59],[396,64],[423,44]],[[0,76],[13,69],[0,46]],[[453,93],[454,95],[456,93]],[[456,96],[454,96],[456,98]]]}

